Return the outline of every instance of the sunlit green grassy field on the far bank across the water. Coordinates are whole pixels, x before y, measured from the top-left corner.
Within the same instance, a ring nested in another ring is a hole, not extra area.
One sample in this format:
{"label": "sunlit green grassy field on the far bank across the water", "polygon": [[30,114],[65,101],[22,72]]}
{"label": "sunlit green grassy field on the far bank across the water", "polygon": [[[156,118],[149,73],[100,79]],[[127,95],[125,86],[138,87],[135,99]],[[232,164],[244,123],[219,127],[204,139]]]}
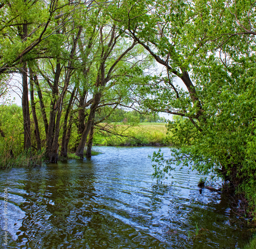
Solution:
{"label": "sunlit green grassy field on the far bank across the water", "polygon": [[101,126],[110,130],[112,134],[96,129],[93,138],[94,145],[170,145],[170,137],[166,134],[165,123],[146,122],[136,126],[122,123],[110,126],[102,123]]}

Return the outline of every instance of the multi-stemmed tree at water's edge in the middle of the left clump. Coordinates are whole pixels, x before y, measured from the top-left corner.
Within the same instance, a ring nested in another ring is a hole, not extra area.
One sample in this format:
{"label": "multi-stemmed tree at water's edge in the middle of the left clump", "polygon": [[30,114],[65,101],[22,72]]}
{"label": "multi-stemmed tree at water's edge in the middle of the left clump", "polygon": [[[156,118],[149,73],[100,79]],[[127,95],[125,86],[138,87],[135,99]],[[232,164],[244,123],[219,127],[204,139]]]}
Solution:
{"label": "multi-stemmed tree at water's edge in the middle of the left clump", "polygon": [[[52,47],[49,52],[52,58],[48,60],[38,60],[37,67],[35,68],[43,79],[42,81],[47,82],[48,89],[50,89],[50,91],[47,90],[51,99],[49,118],[48,121],[47,118],[45,118],[44,122],[45,127],[47,127],[46,155],[51,162],[58,160],[62,111],[65,110],[66,112],[64,116],[66,116],[65,122],[67,122],[72,99],[77,89],[77,84],[73,83],[76,81],[74,80],[75,69],[80,67],[78,42],[81,37],[84,37],[84,32],[86,32],[86,28],[88,27],[86,20],[89,10],[90,6],[83,8],[83,20],[80,19],[80,8],[72,14],[72,18],[69,22],[66,22],[65,19],[60,20],[60,26],[62,28],[54,35],[55,40],[51,40],[55,43],[55,46]],[[37,78],[37,76],[35,78]],[[72,82],[72,84],[70,84],[70,82]],[[37,84],[37,89],[40,92],[40,84]],[[68,107],[63,109],[63,107],[65,107],[64,100],[66,100],[67,91],[73,92],[73,95],[71,94]],[[42,96],[41,94],[39,95],[38,97],[41,99],[40,103],[43,104]],[[43,111],[42,106],[41,110]],[[42,114],[44,113],[42,112]]]}

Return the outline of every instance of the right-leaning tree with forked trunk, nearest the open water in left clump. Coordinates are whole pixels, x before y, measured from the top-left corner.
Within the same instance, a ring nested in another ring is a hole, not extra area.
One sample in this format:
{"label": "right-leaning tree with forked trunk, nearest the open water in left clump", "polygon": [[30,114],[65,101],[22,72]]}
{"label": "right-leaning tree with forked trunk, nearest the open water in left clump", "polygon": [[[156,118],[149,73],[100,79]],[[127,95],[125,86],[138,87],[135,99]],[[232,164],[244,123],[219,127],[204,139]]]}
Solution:
{"label": "right-leaning tree with forked trunk, nearest the open water in left clump", "polygon": [[[106,13],[103,11],[102,15],[105,18]],[[143,60],[139,60],[137,55],[132,54],[136,44],[136,41],[129,43],[122,39],[121,35],[118,34],[114,20],[103,19],[99,28],[98,48],[95,49],[99,59],[93,64],[95,67],[95,82],[92,82],[92,102],[76,155],[83,157],[87,136],[93,129],[92,123],[94,123],[95,113],[97,108],[101,106],[100,102],[106,90],[112,89],[118,81],[122,83],[127,81],[126,78],[131,79],[135,75],[141,74],[142,70],[137,64]],[[121,98],[119,101],[117,99],[115,100],[116,103],[113,104],[120,102]]]}

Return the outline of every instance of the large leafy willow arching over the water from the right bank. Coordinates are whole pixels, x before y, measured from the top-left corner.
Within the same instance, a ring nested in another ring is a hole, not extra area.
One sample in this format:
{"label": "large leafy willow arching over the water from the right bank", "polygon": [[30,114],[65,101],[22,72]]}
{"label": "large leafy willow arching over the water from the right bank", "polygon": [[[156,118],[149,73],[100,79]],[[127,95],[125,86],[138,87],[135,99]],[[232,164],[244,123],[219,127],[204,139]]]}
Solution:
{"label": "large leafy willow arching over the water from the right bank", "polygon": [[[142,96],[142,105],[186,117],[195,127],[192,144],[174,151],[165,172],[189,161],[234,186],[253,181],[255,2],[139,1],[112,15],[122,35],[166,69],[150,85],[154,97]],[[178,78],[186,90],[176,86]]]}

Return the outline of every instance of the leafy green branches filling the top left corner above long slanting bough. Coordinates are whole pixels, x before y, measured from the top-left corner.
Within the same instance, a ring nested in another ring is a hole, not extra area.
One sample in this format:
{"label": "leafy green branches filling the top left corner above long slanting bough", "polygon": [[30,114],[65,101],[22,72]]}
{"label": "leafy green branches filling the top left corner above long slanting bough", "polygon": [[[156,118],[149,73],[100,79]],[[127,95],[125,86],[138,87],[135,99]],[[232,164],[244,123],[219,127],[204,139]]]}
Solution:
{"label": "leafy green branches filling the top left corner above long slanting bough", "polygon": [[[30,52],[30,56],[34,54],[35,58],[44,57],[44,46],[50,41],[50,36],[63,27],[70,15],[76,12],[78,5],[78,2],[72,4],[58,1],[27,2],[26,0],[1,3],[0,75],[15,71],[13,67],[19,65],[20,59],[23,61],[28,59],[24,57]],[[60,18],[65,21],[58,23]],[[38,53],[36,48],[39,45],[41,49]]]}

